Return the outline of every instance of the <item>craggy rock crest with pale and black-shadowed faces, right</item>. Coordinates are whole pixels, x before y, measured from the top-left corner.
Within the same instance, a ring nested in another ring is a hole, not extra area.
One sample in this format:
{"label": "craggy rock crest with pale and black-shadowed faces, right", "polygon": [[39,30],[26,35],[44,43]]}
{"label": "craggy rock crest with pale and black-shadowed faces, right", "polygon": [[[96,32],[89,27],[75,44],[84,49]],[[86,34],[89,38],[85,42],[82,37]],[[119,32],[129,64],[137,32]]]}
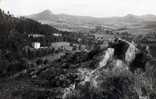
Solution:
{"label": "craggy rock crest with pale and black-shadowed faces, right", "polygon": [[[99,67],[107,66],[108,63],[115,61],[113,64],[115,68],[127,66],[126,68],[129,68],[131,71],[137,68],[145,71],[146,63],[149,60],[148,56],[149,49],[147,46],[138,48],[134,42],[115,38],[109,42],[103,59],[99,62]],[[123,63],[125,64],[124,66]]]}

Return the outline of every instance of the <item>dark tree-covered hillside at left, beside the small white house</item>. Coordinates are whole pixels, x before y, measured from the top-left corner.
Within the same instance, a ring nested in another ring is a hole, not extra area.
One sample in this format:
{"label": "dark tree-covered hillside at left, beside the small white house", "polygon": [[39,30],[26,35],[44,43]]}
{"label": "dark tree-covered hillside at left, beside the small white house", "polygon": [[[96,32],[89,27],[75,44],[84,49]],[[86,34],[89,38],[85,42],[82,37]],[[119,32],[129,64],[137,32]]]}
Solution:
{"label": "dark tree-covered hillside at left, beside the small white house", "polygon": [[0,77],[26,68],[24,64],[28,57],[24,53],[25,47],[31,47],[33,42],[29,34],[44,35],[45,38],[39,40],[46,44],[48,40],[52,40],[47,35],[59,32],[56,28],[31,19],[13,17],[1,9],[0,20]]}

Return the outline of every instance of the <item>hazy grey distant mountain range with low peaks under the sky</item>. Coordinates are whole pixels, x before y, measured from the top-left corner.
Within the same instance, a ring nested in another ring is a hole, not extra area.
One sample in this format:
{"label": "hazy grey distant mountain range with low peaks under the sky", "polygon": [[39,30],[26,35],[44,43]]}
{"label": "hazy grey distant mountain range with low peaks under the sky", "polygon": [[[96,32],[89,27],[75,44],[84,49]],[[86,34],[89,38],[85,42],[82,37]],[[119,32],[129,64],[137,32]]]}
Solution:
{"label": "hazy grey distant mountain range with low peaks under the sky", "polygon": [[49,24],[57,29],[67,31],[86,31],[95,29],[96,26],[102,26],[113,30],[125,28],[130,30],[130,32],[149,32],[155,31],[156,26],[156,16],[152,14],[142,16],[128,14],[123,17],[97,18],[90,16],[54,14],[50,10],[44,10],[40,13],[26,17],[44,24]]}

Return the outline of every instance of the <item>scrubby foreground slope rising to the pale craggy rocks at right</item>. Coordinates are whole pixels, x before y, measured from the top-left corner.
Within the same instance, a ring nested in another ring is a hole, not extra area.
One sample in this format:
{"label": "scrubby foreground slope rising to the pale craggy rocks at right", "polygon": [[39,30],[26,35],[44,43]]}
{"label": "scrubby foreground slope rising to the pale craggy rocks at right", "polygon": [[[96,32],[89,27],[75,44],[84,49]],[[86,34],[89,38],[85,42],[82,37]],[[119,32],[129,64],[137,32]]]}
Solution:
{"label": "scrubby foreground slope rising to the pale craggy rocks at right", "polygon": [[146,64],[146,51],[114,39],[105,49],[68,53],[11,75],[0,83],[0,98],[155,99],[155,65]]}

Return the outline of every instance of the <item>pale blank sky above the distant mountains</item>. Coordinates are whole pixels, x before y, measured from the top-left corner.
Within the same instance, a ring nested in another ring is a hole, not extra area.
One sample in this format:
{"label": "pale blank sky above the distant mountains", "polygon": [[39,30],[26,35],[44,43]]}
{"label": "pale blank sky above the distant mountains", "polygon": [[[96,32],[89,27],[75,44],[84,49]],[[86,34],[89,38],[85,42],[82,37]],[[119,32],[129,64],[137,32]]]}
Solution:
{"label": "pale blank sky above the distant mountains", "polygon": [[156,0],[0,0],[0,8],[15,16],[49,9],[54,14],[93,17],[156,15]]}

